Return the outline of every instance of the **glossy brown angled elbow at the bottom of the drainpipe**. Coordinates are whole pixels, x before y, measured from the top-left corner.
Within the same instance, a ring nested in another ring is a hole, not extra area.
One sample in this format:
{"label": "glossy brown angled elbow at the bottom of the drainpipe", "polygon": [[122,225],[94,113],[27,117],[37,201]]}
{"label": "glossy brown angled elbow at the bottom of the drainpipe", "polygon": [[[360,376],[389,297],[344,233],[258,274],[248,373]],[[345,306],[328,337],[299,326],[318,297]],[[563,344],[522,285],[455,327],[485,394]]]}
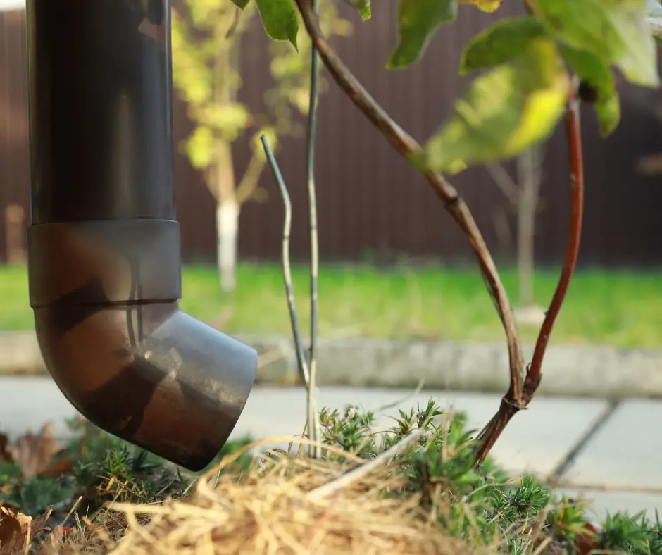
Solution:
{"label": "glossy brown angled elbow at the bottom of the drainpipe", "polygon": [[257,353],[182,312],[172,220],[34,225],[30,302],[44,362],[100,428],[201,470],[254,382]]}

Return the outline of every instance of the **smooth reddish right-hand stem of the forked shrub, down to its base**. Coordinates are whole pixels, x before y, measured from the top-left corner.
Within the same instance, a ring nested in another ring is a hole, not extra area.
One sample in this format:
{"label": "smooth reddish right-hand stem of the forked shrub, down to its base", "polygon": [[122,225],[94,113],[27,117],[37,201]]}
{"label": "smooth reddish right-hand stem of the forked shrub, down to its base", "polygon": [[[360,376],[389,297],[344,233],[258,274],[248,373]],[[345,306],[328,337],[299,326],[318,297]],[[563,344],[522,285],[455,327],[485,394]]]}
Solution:
{"label": "smooth reddish right-hand stem of the forked shrub, down to its base", "polygon": [[577,255],[579,254],[580,239],[582,236],[582,215],[584,211],[584,162],[582,157],[582,137],[580,130],[579,102],[574,92],[568,99],[568,110],[566,111],[566,138],[568,142],[568,153],[570,155],[570,230],[568,232],[568,244],[566,247],[566,259],[563,262],[563,270],[558,278],[558,285],[551,304],[545,315],[544,322],[540,328],[538,339],[533,351],[533,358],[527,368],[526,378],[521,397],[511,397],[511,392],[501,400],[499,412],[489,421],[487,426],[478,436],[478,448],[476,451],[477,465],[492,449],[494,442],[499,439],[511,418],[527,405],[533,398],[542,378],[542,360],[549,343],[551,330],[561,310],[563,300],[566,298],[570,281],[573,279],[575,267],[577,266]]}

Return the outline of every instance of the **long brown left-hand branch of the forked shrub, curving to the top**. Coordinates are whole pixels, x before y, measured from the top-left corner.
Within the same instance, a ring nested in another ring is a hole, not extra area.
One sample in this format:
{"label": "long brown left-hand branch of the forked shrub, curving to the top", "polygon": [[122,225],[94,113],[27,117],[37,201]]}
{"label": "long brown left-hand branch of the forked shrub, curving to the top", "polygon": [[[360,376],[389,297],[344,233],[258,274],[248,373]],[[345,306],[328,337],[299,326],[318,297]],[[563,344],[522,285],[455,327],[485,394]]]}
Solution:
{"label": "long brown left-hand branch of the forked shrub, curving to the top", "polygon": [[[346,95],[349,96],[351,101],[354,102],[355,106],[366,118],[382,132],[382,135],[392,144],[394,149],[410,160],[411,155],[420,149],[418,143],[404,132],[390,118],[386,111],[377,104],[330,47],[320,30],[318,19],[313,12],[311,0],[296,0],[296,4],[299,6],[301,18],[304,20],[308,35],[310,35],[313,44],[317,47],[320,58],[337,85],[344,90]],[[478,258],[481,273],[497,305],[499,318],[501,318],[501,323],[504,326],[508,341],[508,357],[511,372],[511,387],[508,389],[508,395],[519,399],[522,394],[524,370],[522,346],[520,344],[513,310],[508,301],[504,285],[501,283],[501,278],[499,278],[497,267],[492,260],[492,255],[489,254],[485,239],[482,238],[469,208],[454,187],[442,175],[437,173],[425,172],[423,173],[423,177],[425,177],[432,191],[442,200],[446,211],[451,213],[453,219],[465,232],[471,248]]]}

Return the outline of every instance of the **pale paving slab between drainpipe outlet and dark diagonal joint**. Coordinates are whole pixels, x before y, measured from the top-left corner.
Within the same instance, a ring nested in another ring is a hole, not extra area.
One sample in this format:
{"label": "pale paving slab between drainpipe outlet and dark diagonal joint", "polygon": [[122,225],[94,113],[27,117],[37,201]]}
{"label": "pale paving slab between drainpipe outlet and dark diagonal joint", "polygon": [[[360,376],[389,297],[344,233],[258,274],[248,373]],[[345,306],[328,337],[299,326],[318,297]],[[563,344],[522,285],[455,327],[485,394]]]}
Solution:
{"label": "pale paving slab between drainpipe outlet and dark diagonal joint", "polygon": [[[346,404],[358,404],[366,409],[377,409],[397,403],[407,395],[404,390],[325,387],[320,390],[318,406],[342,409]],[[501,399],[497,394],[421,392],[401,402],[399,407],[409,411],[417,403],[424,406],[430,397],[442,409],[466,412],[470,428],[482,428],[494,416]],[[494,459],[512,472],[550,473],[607,407],[606,401],[598,399],[535,399],[529,410],[513,418],[499,438],[492,450]],[[256,389],[249,397],[235,433],[250,432],[254,437],[300,434],[304,415],[305,395],[301,389]],[[377,419],[375,428],[384,430],[393,425],[387,415],[397,416],[397,409],[385,411]]]}

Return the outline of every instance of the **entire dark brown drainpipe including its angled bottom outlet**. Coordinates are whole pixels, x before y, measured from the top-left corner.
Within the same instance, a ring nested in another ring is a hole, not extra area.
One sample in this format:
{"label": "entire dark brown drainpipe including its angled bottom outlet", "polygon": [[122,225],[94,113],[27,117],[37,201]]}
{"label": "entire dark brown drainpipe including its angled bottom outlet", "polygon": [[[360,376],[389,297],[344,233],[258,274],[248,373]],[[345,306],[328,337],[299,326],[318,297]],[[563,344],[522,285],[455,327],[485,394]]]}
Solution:
{"label": "entire dark brown drainpipe including its angled bottom outlet", "polygon": [[170,0],[27,0],[30,305],[93,423],[200,470],[257,354],[180,311]]}

